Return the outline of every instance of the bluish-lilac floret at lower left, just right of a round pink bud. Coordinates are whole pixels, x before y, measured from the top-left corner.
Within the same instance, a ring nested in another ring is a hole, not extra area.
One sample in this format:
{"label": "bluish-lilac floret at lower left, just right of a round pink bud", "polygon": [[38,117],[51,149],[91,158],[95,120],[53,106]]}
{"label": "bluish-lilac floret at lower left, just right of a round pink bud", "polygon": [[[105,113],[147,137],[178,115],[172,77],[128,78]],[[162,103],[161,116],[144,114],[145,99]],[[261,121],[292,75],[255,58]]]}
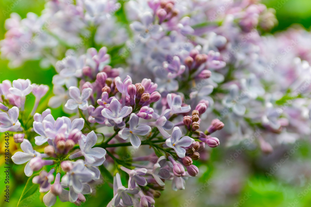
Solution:
{"label": "bluish-lilac floret at lower left, just right of a round pink bud", "polygon": [[78,199],[79,193],[84,190],[91,192],[90,186],[86,182],[90,182],[95,173],[86,169],[83,160],[77,160],[72,165],[72,170],[63,176],[61,185],[69,187],[69,201],[73,203]]}

